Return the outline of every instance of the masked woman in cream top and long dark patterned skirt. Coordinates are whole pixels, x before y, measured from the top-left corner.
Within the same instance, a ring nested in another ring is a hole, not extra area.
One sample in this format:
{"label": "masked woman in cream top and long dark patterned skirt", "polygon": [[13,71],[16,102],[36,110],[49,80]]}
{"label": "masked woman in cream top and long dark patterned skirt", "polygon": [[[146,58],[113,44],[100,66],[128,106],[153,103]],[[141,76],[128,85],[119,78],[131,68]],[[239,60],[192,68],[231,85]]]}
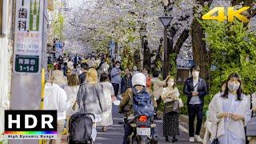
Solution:
{"label": "masked woman in cream top and long dark patterned skirt", "polygon": [[[166,109],[166,102],[178,100],[178,88],[174,85],[174,78],[168,77],[166,79],[166,87],[162,90],[162,100],[165,103],[164,109]],[[178,113],[172,111],[163,115],[162,129],[163,136],[166,138],[166,142],[169,142],[169,136],[172,136],[172,142],[177,142],[176,135],[179,134],[178,128]]]}

